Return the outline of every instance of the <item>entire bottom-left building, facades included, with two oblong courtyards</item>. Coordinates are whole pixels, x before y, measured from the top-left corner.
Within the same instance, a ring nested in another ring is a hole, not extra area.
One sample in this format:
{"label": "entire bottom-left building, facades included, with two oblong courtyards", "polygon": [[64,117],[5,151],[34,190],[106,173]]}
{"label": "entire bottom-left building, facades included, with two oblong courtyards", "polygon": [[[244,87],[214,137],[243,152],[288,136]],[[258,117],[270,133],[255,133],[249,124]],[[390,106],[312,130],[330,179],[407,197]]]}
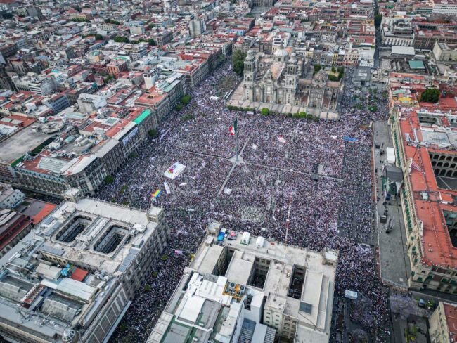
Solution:
{"label": "entire bottom-left building, facades included, with two oblong courtyards", "polygon": [[1,258],[0,335],[105,342],[166,245],[165,214],[81,198],[79,190]]}

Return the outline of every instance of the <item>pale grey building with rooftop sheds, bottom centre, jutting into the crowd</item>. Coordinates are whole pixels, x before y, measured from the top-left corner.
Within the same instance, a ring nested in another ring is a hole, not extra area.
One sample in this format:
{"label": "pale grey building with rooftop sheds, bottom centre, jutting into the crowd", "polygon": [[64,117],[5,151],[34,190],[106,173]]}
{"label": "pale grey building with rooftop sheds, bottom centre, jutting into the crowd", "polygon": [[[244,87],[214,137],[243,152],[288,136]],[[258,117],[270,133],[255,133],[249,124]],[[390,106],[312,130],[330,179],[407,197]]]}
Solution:
{"label": "pale grey building with rooftop sheds, bottom centre, jutting into the crowd", "polygon": [[212,223],[147,342],[328,342],[336,265]]}

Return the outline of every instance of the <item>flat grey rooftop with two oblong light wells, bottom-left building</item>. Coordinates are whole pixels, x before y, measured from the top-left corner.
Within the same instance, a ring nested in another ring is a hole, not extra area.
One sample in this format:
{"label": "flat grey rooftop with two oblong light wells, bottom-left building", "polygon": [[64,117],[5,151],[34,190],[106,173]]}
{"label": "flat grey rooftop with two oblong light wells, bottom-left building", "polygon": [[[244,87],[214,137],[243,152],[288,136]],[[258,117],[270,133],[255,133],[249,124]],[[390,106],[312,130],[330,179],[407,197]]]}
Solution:
{"label": "flat grey rooftop with two oblong light wells, bottom-left building", "polygon": [[162,209],[62,202],[0,259],[0,321],[60,342],[100,311],[152,237]]}

